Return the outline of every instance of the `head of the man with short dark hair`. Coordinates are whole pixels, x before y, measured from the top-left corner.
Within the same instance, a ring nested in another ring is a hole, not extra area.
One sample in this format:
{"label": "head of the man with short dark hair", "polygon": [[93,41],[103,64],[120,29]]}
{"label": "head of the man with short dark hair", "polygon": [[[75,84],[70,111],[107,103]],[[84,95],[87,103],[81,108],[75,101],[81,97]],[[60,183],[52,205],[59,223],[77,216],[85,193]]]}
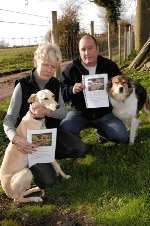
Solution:
{"label": "head of the man with short dark hair", "polygon": [[97,48],[91,37],[83,37],[79,42],[79,52],[83,63],[87,66],[95,66],[97,63]]}

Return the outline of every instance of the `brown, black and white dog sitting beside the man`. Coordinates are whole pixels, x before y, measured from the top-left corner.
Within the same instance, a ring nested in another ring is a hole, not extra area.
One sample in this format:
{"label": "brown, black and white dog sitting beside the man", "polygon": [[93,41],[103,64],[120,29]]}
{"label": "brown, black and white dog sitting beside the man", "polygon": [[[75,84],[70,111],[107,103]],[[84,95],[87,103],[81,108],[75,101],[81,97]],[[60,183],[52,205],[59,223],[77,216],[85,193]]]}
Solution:
{"label": "brown, black and white dog sitting beside the man", "polygon": [[143,86],[126,75],[114,76],[108,82],[107,92],[113,107],[112,112],[127,128],[130,128],[129,143],[133,144],[140,123],[139,111],[144,107],[150,117],[150,100],[147,92]]}

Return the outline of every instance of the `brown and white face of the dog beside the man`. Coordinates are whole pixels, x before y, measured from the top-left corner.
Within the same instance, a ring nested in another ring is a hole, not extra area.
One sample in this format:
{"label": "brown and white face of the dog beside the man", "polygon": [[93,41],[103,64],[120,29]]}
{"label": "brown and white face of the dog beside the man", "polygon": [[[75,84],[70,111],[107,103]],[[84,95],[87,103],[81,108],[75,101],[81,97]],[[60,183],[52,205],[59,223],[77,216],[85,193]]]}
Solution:
{"label": "brown and white face of the dog beside the man", "polygon": [[133,88],[127,76],[117,75],[108,83],[107,90],[112,98],[124,101],[131,94]]}

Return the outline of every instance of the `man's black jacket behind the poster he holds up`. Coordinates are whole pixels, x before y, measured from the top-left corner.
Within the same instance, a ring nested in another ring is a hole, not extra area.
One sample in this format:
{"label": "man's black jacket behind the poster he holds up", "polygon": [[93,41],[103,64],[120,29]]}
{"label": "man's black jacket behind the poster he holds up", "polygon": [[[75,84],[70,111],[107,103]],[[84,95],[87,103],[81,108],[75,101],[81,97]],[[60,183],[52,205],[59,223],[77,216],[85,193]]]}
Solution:
{"label": "man's black jacket behind the poster he holds up", "polygon": [[[113,61],[98,56],[97,57],[97,67],[96,74],[108,74],[108,80],[110,80],[113,76],[121,74],[116,63]],[[73,86],[75,83],[82,82],[82,75],[88,75],[89,71],[84,68],[81,63],[81,59],[77,58],[73,60],[73,62],[64,69],[61,76],[61,85],[62,85],[62,93],[65,102],[71,101],[72,106],[77,111],[82,111],[83,115],[88,119],[97,119],[105,114],[112,111],[112,107],[101,107],[101,108],[86,108],[85,100],[83,92],[78,94],[73,94]]]}

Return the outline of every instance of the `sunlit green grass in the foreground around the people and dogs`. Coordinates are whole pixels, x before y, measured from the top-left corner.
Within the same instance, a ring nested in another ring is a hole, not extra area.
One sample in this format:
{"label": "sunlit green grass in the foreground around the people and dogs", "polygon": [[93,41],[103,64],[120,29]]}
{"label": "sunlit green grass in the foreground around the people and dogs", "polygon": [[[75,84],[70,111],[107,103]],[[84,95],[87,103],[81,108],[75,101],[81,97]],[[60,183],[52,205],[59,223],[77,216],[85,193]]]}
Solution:
{"label": "sunlit green grass in the foreground around the people and dogs", "polygon": [[[148,90],[147,72],[126,73]],[[1,104],[5,111],[8,100]],[[61,160],[71,179],[57,181],[46,191],[42,204],[14,204],[0,190],[2,226],[149,226],[150,225],[150,124],[141,112],[134,145],[96,142],[95,130],[86,129],[82,139],[92,144],[83,159]],[[0,156],[8,140],[0,124]]]}

